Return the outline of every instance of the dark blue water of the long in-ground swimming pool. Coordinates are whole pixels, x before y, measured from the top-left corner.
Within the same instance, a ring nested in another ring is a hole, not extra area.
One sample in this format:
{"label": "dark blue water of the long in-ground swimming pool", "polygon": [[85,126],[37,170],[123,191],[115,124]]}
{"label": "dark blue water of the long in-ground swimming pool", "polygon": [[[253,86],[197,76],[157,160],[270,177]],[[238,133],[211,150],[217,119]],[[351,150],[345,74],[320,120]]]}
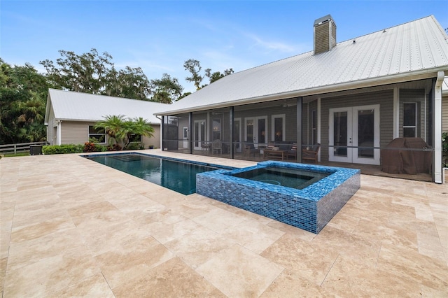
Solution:
{"label": "dark blue water of the long in-ground swimming pool", "polygon": [[122,153],[85,157],[181,194],[196,192],[197,173],[223,169],[218,166],[183,162],[180,159],[163,159],[141,154]]}

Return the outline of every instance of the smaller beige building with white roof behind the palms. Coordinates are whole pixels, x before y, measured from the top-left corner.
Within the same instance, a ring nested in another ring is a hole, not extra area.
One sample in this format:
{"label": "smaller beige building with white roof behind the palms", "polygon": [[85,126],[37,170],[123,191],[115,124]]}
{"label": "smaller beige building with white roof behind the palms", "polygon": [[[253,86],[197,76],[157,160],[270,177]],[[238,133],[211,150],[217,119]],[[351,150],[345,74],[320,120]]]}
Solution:
{"label": "smaller beige building with white roof behind the palms", "polygon": [[90,139],[106,144],[105,132],[94,129],[94,124],[107,115],[124,115],[148,120],[154,135],[152,138],[144,136],[141,143],[145,148],[160,148],[160,119],[154,113],[165,106],[167,104],[153,101],[50,89],[45,111],[47,140],[50,145],[83,144]]}

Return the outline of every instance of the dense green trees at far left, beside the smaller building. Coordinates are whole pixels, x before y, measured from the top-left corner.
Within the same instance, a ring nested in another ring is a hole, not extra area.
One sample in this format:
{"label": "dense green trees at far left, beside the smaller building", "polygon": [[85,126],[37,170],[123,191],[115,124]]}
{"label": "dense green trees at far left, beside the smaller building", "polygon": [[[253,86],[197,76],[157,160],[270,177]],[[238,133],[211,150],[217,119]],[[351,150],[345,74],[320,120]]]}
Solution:
{"label": "dense green trees at far left, beside the smaller building", "polygon": [[0,59],[0,143],[45,141],[48,83],[30,64]]}

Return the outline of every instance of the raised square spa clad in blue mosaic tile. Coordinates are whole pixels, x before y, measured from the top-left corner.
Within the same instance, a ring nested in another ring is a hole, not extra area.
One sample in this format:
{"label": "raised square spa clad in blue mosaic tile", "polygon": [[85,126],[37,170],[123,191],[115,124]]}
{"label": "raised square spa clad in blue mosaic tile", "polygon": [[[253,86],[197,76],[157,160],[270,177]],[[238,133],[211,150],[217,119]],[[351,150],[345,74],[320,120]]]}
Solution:
{"label": "raised square spa clad in blue mosaic tile", "polygon": [[196,175],[198,194],[315,234],[359,187],[358,169],[291,162],[259,162]]}

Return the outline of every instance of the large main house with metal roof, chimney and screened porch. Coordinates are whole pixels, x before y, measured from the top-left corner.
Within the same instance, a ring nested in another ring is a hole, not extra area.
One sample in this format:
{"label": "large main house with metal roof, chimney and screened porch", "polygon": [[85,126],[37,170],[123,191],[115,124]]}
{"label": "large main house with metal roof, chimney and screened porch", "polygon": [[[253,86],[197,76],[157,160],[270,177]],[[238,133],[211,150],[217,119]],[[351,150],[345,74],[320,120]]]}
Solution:
{"label": "large main house with metal roof, chimney and screened porch", "polygon": [[419,138],[441,183],[447,34],[433,16],[339,43],[336,29],[321,17],[314,50],[225,76],[156,113],[163,150],[247,159],[273,142],[297,146],[301,162],[320,144],[320,162],[381,165],[391,141]]}

